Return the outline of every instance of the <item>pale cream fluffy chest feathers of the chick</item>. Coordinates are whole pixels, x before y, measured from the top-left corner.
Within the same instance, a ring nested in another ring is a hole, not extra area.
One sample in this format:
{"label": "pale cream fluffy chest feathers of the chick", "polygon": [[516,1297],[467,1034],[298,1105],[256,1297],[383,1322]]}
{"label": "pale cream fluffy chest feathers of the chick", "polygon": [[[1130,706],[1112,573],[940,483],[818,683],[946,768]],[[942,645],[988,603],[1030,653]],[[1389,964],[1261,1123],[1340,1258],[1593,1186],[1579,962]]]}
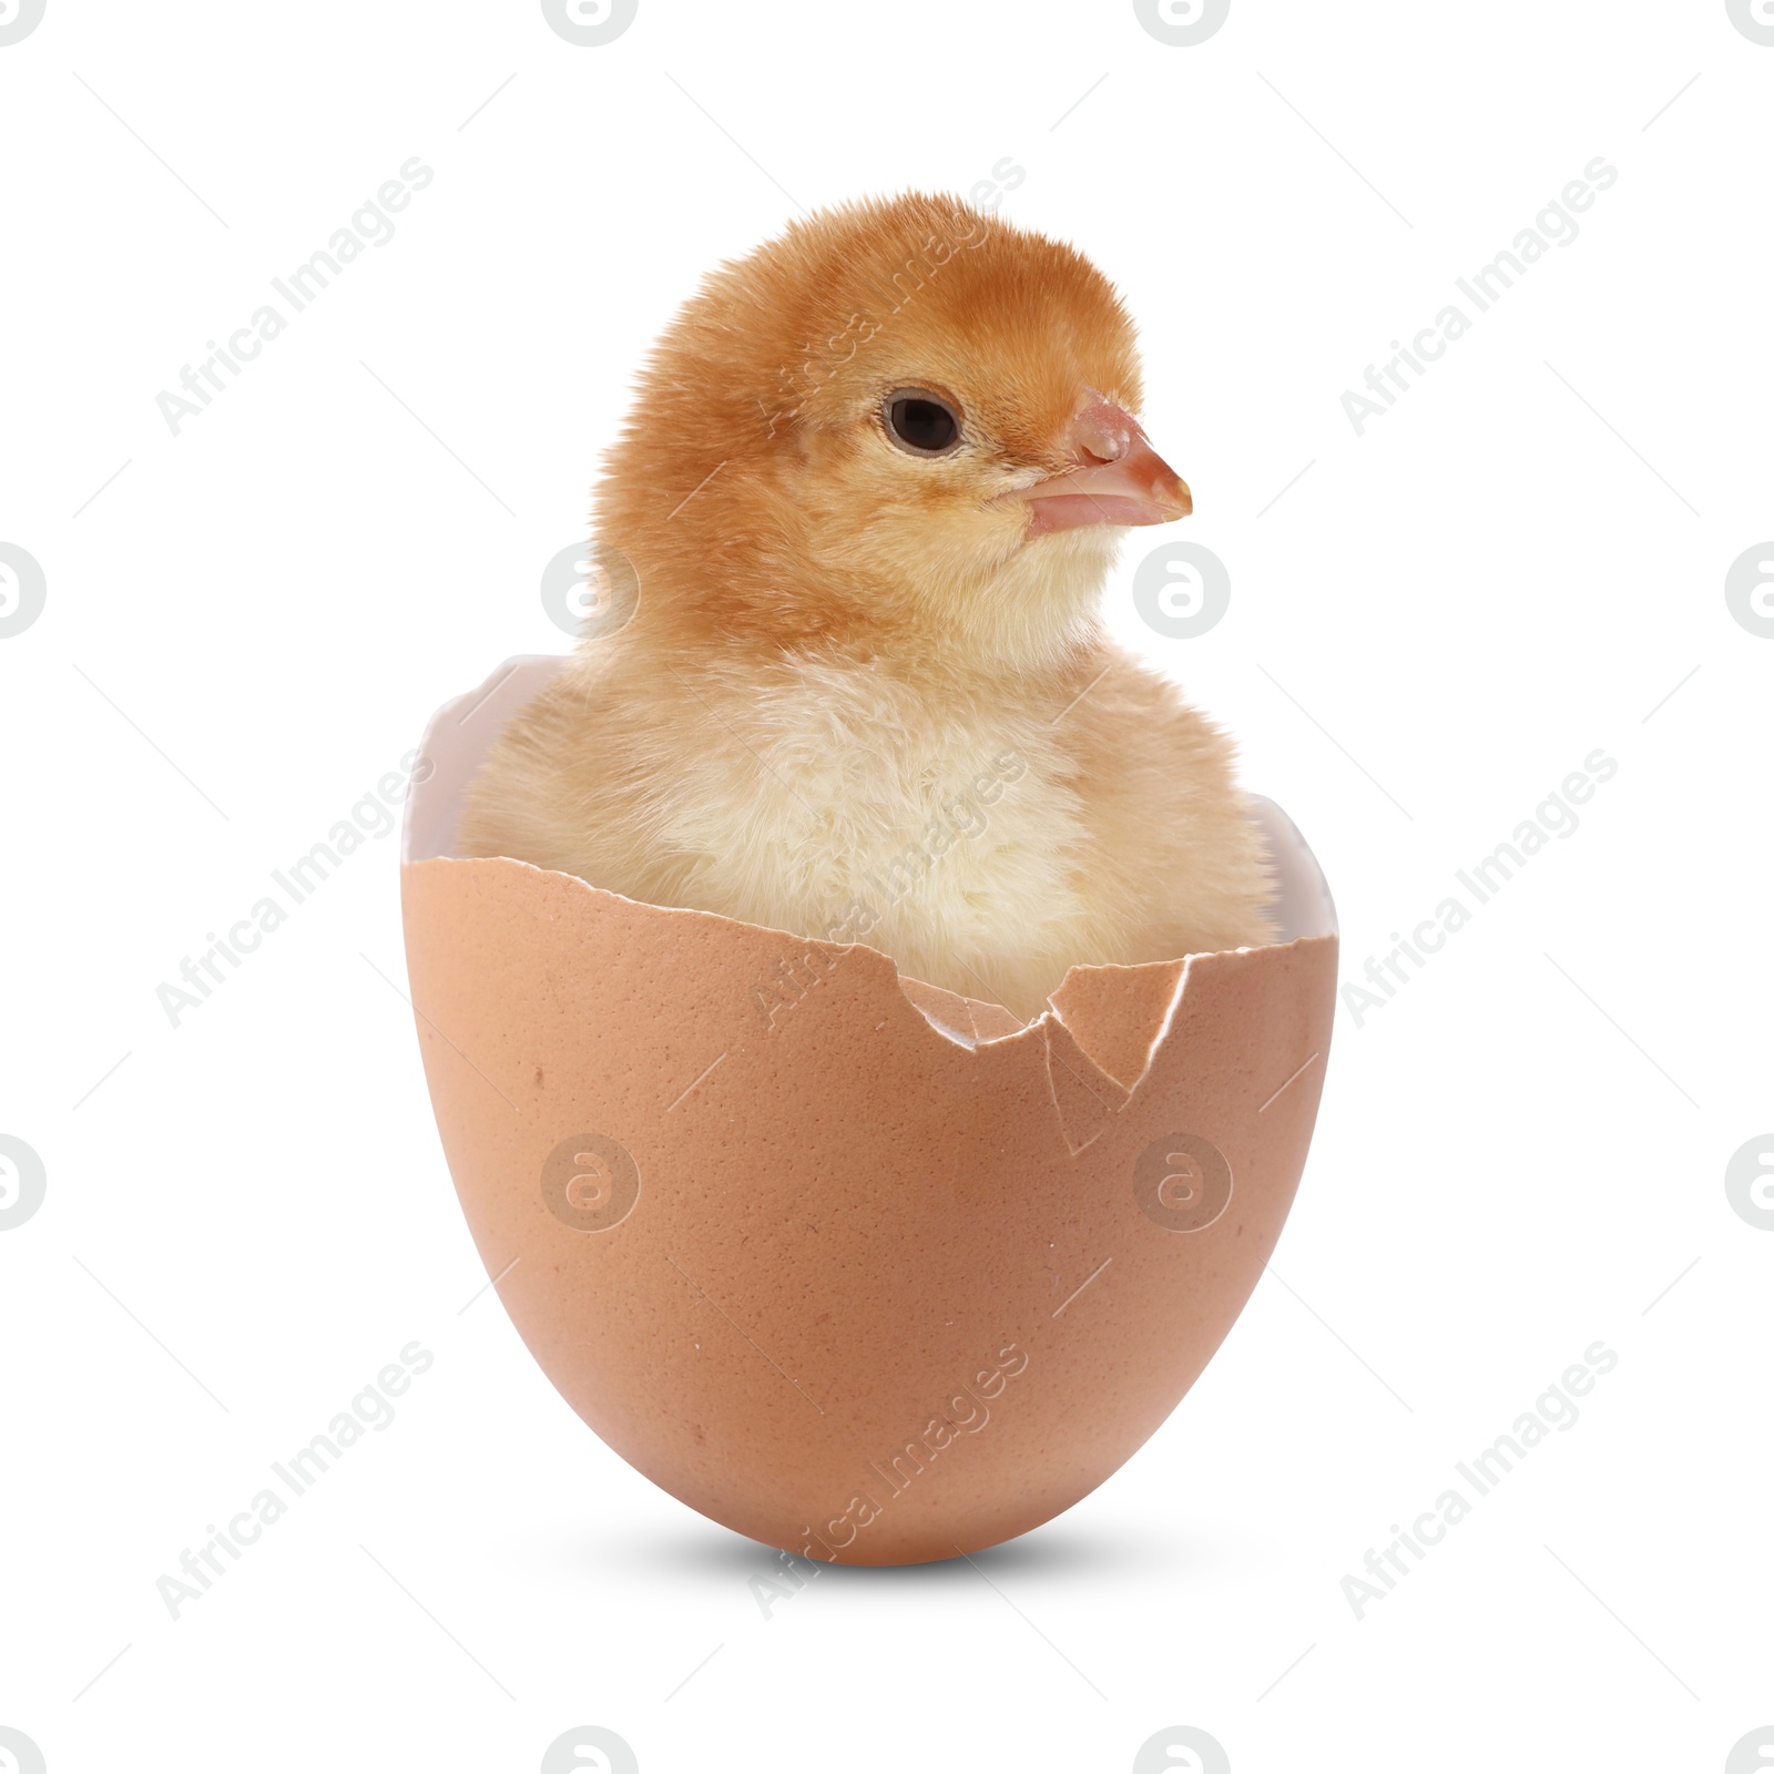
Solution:
{"label": "pale cream fluffy chest feathers of the chick", "polygon": [[1043,715],[938,706],[883,669],[703,694],[660,832],[699,859],[695,903],[914,976],[1082,928],[1084,809]]}

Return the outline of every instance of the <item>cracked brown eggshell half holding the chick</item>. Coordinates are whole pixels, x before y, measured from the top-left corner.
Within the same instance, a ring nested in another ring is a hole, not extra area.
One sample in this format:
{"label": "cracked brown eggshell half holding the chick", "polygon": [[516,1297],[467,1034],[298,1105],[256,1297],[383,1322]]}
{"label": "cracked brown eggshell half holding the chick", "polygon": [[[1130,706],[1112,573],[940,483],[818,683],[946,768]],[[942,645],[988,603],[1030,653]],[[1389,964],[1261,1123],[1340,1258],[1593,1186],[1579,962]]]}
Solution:
{"label": "cracked brown eggshell half holding the chick", "polygon": [[[403,852],[431,1102],[506,1311],[610,1448],[742,1535],[901,1565],[1040,1526],[1164,1423],[1281,1235],[1336,992],[1311,853],[1252,802],[1286,940],[1075,967],[1024,1027],[862,946],[452,859],[562,663],[440,711]],[[805,995],[772,1027],[784,962]]]}

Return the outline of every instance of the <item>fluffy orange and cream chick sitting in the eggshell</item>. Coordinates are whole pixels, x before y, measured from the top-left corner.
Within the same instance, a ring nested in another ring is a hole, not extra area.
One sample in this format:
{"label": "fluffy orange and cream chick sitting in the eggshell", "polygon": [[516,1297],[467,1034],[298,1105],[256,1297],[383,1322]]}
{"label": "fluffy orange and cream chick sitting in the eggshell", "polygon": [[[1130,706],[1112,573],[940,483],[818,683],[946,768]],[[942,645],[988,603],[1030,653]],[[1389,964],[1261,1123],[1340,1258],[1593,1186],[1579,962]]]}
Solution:
{"label": "fluffy orange and cream chick sitting in the eggshell", "polygon": [[640,378],[616,633],[506,729],[459,852],[867,942],[1038,1015],[1066,969],[1272,940],[1229,742],[1098,617],[1190,509],[1071,247],[907,195],[715,271]]}

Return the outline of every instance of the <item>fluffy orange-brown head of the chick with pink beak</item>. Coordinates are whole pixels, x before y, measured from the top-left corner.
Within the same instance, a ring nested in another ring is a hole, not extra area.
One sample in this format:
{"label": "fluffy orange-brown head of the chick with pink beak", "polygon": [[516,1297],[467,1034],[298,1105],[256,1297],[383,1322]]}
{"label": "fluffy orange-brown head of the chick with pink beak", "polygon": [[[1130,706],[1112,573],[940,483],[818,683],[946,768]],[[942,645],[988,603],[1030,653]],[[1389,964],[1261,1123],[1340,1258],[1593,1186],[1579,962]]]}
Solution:
{"label": "fluffy orange-brown head of the chick with pink beak", "polygon": [[[1075,248],[940,197],[797,222],[660,341],[600,491],[653,621],[1040,663],[1190,509]],[[653,573],[649,575],[649,568]]]}

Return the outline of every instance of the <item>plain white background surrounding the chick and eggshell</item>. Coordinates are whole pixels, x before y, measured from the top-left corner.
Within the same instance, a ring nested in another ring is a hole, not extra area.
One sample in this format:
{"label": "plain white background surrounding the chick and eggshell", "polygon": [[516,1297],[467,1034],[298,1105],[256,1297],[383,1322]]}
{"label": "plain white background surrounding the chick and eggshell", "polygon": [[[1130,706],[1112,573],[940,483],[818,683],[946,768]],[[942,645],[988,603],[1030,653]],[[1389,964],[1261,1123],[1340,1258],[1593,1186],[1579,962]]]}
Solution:
{"label": "plain white background surrounding the chick and eggshell", "polygon": [[[532,1770],[585,1723],[646,1774],[1123,1770],[1169,1724],[1238,1774],[1723,1769],[1774,1721],[1774,1233],[1724,1192],[1774,1126],[1774,640],[1724,601],[1774,536],[1770,106],[1723,0],[1235,0],[1194,48],[1123,0],[642,0],[603,48],[520,0],[50,0],[0,48],[0,541],[48,585],[0,640],[0,1132],[48,1174],[0,1233],[0,1724],[51,1774]],[[396,238],[174,436],[156,394],[415,154]],[[1134,538],[1116,628],[1306,832],[1346,979],[1620,768],[1339,1009],[1276,1267],[1114,1480],[765,1618],[770,1554],[463,1309],[396,839],[177,1029],[154,992],[438,703],[566,646],[541,568],[710,264],[1004,156],[1002,213],[1126,291],[1231,571],[1162,640]],[[1581,238],[1357,436],[1343,390],[1595,156]],[[399,1419],[170,1620],[412,1339]],[[1597,1339],[1582,1419],[1357,1620],[1345,1574]]]}

